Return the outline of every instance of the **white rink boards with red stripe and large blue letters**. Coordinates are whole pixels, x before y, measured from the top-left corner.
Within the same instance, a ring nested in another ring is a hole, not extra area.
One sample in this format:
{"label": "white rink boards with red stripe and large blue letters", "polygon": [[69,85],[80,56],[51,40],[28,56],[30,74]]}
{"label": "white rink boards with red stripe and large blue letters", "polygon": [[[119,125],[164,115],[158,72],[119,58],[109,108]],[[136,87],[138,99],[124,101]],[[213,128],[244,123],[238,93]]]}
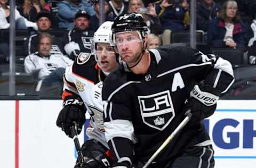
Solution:
{"label": "white rink boards with red stripe and large blue letters", "polygon": [[[62,101],[18,101],[19,113],[15,113],[15,100],[0,101],[2,132],[0,167],[73,167],[76,160],[74,142],[55,125]],[[19,138],[16,140],[15,114],[19,114]],[[209,120],[205,120],[209,121],[209,134],[214,142],[215,167],[255,167],[256,138],[249,136],[246,142],[243,139],[248,130],[251,130],[256,137],[255,120],[256,100],[220,100],[218,102],[217,112]],[[215,132],[212,131],[213,129]],[[245,133],[243,129],[246,130]],[[237,143],[238,139],[239,143]],[[79,136],[79,140],[82,144],[83,135]],[[16,141],[19,142],[18,149],[15,149]],[[222,145],[229,149],[223,149]],[[247,148],[244,147],[246,145]],[[15,155],[15,150],[19,151],[19,155]],[[16,166],[15,161],[18,163]]]}

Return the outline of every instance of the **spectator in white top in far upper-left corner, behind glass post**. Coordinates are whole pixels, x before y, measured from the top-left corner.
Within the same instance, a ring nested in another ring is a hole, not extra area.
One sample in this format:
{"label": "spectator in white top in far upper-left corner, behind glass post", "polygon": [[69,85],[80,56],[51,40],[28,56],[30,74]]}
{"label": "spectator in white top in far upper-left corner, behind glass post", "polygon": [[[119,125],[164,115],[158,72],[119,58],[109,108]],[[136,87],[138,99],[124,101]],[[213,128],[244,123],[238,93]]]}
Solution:
{"label": "spectator in white top in far upper-left corner, behind glass post", "polygon": [[[35,22],[30,22],[15,9],[15,25],[17,29],[27,29],[32,27],[37,30]],[[0,0],[0,29],[8,29],[10,27],[10,9],[7,0]]]}

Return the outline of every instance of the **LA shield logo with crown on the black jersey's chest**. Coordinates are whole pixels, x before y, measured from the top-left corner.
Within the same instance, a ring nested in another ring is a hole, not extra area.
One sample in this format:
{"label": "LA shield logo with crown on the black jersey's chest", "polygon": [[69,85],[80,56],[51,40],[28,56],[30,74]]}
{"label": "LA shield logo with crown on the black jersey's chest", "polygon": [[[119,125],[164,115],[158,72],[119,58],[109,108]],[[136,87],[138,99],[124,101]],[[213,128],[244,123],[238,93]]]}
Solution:
{"label": "LA shield logo with crown on the black jersey's chest", "polygon": [[164,130],[175,116],[169,90],[138,96],[142,120],[149,127]]}

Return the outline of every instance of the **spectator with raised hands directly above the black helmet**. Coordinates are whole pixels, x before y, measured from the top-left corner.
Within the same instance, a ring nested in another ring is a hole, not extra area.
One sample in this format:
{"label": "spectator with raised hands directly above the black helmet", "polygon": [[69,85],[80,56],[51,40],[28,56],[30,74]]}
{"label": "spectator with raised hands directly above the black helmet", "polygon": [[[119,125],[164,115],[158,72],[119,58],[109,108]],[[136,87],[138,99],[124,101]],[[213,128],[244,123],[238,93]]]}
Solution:
{"label": "spectator with raised hands directly above the black helmet", "polygon": [[130,0],[128,12],[141,13],[143,15],[143,18],[148,26],[148,34],[162,34],[162,26],[156,14],[155,4],[149,3],[148,7],[145,8],[142,0]]}

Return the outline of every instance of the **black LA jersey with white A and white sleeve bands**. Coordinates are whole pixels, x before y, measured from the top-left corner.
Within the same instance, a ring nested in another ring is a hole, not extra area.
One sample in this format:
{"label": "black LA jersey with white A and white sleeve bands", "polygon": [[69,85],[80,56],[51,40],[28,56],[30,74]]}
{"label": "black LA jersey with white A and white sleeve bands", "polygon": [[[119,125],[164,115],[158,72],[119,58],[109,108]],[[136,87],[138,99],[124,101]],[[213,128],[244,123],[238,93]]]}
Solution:
{"label": "black LA jersey with white A and white sleeve bands", "polygon": [[[185,46],[162,46],[150,51],[148,72],[137,75],[119,68],[103,84],[105,135],[116,161],[148,161],[185,118],[183,104],[196,83],[225,93],[234,82],[231,64]],[[155,159],[177,157],[189,146],[211,144],[201,122],[189,123]],[[129,159],[127,159],[129,158]]]}

